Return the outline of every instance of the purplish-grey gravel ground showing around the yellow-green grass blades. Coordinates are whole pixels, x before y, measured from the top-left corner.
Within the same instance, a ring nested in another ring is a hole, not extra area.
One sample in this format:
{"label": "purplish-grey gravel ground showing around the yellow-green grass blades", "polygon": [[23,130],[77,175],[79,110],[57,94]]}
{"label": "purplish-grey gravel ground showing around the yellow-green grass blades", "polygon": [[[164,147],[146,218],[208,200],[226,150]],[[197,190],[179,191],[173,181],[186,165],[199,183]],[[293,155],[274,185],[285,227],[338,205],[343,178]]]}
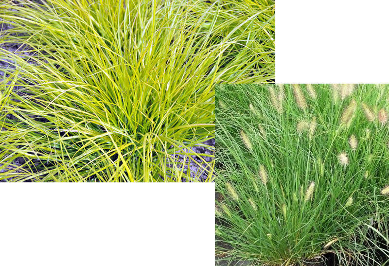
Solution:
{"label": "purplish-grey gravel ground showing around the yellow-green grass blades", "polygon": [[[35,0],[35,2],[41,2],[41,1]],[[0,20],[0,38],[1,38],[2,34],[4,33],[4,31],[6,31],[10,28],[11,28],[10,25],[3,24],[3,23],[1,23],[1,20]],[[25,49],[25,48],[23,48],[22,45],[20,45],[18,43],[2,43],[2,42],[0,42],[0,48],[8,50],[12,53],[18,53],[18,52],[22,51],[23,49]],[[23,54],[25,54],[26,57],[32,55],[32,53],[27,53],[27,52],[24,52]],[[0,77],[4,76],[4,72],[1,71],[1,69],[13,68],[12,65],[10,65],[10,62],[12,62],[12,61],[8,58],[0,58]],[[4,80],[2,78],[0,78],[0,83],[2,83],[2,82],[4,82]],[[20,86],[15,86],[15,88],[14,88],[15,91],[18,91],[19,89],[21,89]],[[7,115],[7,117],[10,119],[15,119],[14,117],[11,117],[11,115]],[[203,144],[214,147],[215,141],[214,141],[214,139],[212,139],[212,140],[206,141],[204,143],[194,145],[194,146],[190,147],[190,150],[195,152],[195,153],[213,155],[214,148],[208,149],[208,148],[204,147]],[[183,151],[186,151],[186,149],[183,149]],[[0,151],[0,155],[1,155],[1,151]],[[185,157],[183,155],[179,155],[179,154],[172,155],[172,158],[173,158],[173,160],[176,161],[178,167],[183,167],[183,172],[185,174],[188,171],[188,165],[189,165],[191,177],[197,178],[201,181],[204,181],[208,177],[208,172],[210,171],[210,167],[209,167],[208,163],[212,161],[212,158],[207,157],[207,156],[191,156],[191,157],[193,160],[198,162],[200,165],[196,164],[195,161],[193,161],[190,158]],[[204,159],[207,163],[204,163],[202,159]],[[13,161],[13,164],[16,166],[21,166],[24,163],[25,163],[25,160],[22,157],[19,157]],[[171,166],[171,165],[168,165],[168,166]],[[0,170],[0,173],[5,172],[5,171],[6,170]],[[6,181],[7,180],[0,180],[0,182],[6,182]],[[186,180],[183,180],[183,181],[186,181]]]}

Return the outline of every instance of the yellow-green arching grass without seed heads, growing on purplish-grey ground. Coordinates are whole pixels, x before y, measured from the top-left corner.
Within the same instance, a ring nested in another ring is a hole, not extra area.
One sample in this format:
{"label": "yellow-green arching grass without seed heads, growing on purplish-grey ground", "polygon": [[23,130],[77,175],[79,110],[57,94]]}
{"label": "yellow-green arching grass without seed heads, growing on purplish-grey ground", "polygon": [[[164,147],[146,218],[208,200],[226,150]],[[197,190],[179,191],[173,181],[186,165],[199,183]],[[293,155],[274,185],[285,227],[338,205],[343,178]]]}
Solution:
{"label": "yellow-green arching grass without seed heads, growing on purplish-grey ground", "polygon": [[214,84],[274,79],[272,0],[26,2],[0,5],[0,179],[196,181],[171,156],[213,137]]}

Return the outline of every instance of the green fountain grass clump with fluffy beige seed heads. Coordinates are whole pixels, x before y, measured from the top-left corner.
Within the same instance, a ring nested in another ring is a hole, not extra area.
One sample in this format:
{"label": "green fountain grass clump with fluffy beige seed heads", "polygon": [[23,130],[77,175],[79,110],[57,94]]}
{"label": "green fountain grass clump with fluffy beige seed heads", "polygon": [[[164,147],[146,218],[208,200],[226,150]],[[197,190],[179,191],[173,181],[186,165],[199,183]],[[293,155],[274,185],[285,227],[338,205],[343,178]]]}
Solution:
{"label": "green fountain grass clump with fluffy beige seed heads", "polygon": [[220,85],[215,111],[219,260],[389,256],[388,85]]}

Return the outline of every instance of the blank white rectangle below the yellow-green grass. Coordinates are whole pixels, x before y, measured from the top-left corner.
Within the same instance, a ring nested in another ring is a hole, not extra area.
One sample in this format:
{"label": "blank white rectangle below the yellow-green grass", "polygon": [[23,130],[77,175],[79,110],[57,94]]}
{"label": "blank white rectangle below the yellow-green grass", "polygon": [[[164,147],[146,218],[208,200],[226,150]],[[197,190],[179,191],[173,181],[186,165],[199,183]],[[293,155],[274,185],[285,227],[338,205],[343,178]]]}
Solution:
{"label": "blank white rectangle below the yellow-green grass", "polygon": [[214,184],[1,183],[0,265],[214,265]]}

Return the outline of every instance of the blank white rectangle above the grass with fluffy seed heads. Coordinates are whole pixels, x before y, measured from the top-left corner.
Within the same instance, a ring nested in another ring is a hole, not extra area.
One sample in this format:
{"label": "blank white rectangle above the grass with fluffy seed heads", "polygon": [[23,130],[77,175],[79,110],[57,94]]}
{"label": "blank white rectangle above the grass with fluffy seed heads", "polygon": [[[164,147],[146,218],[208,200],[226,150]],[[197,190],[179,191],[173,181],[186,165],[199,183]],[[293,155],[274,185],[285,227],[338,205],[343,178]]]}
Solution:
{"label": "blank white rectangle above the grass with fluffy seed heads", "polygon": [[276,0],[276,83],[389,83],[389,1]]}

